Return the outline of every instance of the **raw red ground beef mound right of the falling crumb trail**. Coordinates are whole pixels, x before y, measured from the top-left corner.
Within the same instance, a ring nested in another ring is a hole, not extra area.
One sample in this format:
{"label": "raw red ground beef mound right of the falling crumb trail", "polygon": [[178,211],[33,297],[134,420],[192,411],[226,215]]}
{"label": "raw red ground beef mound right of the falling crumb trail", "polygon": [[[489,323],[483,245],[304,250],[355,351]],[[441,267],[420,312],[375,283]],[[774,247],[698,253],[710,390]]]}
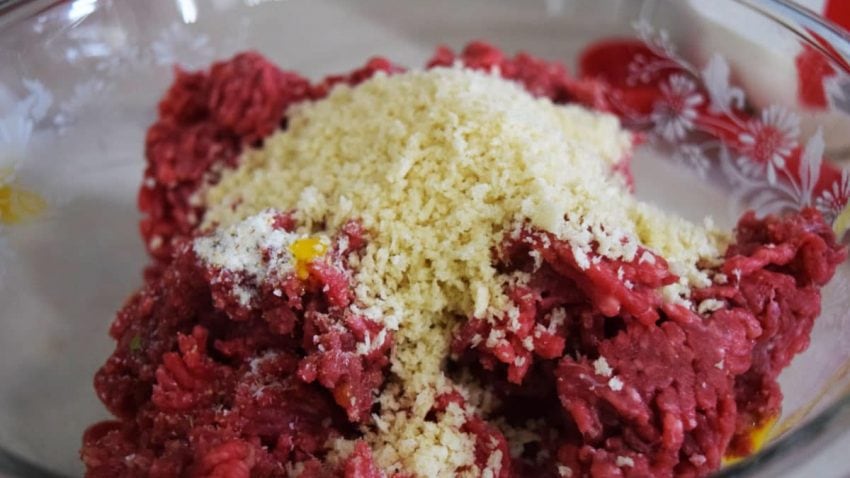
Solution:
{"label": "raw red ground beef mound right of the falling crumb trail", "polygon": [[814,209],[749,213],[736,230],[717,268],[726,283],[695,292],[722,301],[704,316],[662,302],[658,288],[675,276],[661,257],[599,258],[582,270],[570,245],[548,233],[506,239],[500,265],[526,277],[507,291],[519,313],[468,320],[453,352],[483,369],[508,404],[486,419],[553,423],[557,438],[514,457],[514,468],[705,476],[724,454],[752,451],[751,432],[779,413],[779,372],[808,345],[820,288],[846,251]]}

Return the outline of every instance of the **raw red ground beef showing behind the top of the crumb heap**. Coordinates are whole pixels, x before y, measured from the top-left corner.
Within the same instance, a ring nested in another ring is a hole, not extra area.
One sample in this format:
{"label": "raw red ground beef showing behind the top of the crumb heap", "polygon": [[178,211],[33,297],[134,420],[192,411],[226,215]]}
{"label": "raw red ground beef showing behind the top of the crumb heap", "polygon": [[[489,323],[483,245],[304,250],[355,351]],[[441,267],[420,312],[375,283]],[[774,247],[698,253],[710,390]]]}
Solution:
{"label": "raw red ground beef showing behind the top of the crumb heap", "polygon": [[[559,63],[520,53],[507,58],[483,42],[470,43],[459,56],[437,50],[428,66],[460,61],[471,68],[499,69],[502,76],[521,82],[531,93],[558,103],[579,104],[607,111],[603,83],[578,80]],[[376,72],[399,73],[404,68],[374,57],[347,74],[330,75],[311,85],[297,73],[283,71],[255,52],[214,63],[209,71],[175,68],[174,83],[159,103],[159,118],[145,138],[147,168],[139,190],[142,239],[155,259],[149,274],[173,256],[174,244],[191,237],[204,216],[195,193],[218,181],[221,171],[238,164],[240,152],[286,124],[287,108],[306,99],[317,100],[339,83],[356,85]],[[631,184],[629,157],[615,169]]]}

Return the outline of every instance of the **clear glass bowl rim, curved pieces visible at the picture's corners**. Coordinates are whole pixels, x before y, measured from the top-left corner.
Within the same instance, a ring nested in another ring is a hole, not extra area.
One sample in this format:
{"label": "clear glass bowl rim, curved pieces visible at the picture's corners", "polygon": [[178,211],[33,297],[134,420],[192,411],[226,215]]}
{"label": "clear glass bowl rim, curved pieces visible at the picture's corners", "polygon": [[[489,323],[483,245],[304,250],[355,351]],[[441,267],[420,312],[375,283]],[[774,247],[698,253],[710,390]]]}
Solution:
{"label": "clear glass bowl rim, curved pieces visible at the picture's corners", "polygon": [[[0,33],[9,24],[31,18],[65,1],[67,0],[0,0]],[[781,25],[789,33],[797,36],[801,42],[817,49],[836,65],[850,64],[850,34],[829,20],[789,0],[732,1],[745,5]],[[832,49],[824,48],[821,42],[828,43]],[[789,452],[816,449],[817,443],[823,443],[842,432],[850,433],[850,429],[841,428],[842,422],[847,420],[850,420],[850,388],[847,388],[835,403],[811,417],[799,428],[770,442],[755,455],[724,467],[713,477],[747,477],[754,476],[768,467],[793,466],[795,463],[786,460]],[[809,456],[813,456],[813,453]],[[6,477],[66,478],[16,456],[0,446],[0,478]]]}

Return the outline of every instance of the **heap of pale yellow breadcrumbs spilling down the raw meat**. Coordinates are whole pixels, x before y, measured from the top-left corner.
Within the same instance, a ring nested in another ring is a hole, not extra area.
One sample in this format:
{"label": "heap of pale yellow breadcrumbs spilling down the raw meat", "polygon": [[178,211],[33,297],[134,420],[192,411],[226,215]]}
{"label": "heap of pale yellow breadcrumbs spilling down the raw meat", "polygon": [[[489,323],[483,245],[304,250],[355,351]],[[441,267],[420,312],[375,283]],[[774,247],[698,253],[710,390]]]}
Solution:
{"label": "heap of pale yellow breadcrumbs spilling down the raw meat", "polygon": [[722,237],[633,199],[610,172],[631,144],[614,116],[489,73],[378,74],[293,107],[286,131],[205,191],[205,226],[267,208],[295,209],[306,232],[362,221],[370,242],[352,262],[357,299],[397,329],[394,378],[366,439],[385,470],[452,476],[474,460],[460,430],[468,411],[425,416],[439,393],[468,392],[442,372],[457,317],[510,306],[492,253],[516,224],[568,240],[585,267],[591,253],[638,260],[642,244],[681,271],[677,293],[707,280],[696,263],[716,257]]}

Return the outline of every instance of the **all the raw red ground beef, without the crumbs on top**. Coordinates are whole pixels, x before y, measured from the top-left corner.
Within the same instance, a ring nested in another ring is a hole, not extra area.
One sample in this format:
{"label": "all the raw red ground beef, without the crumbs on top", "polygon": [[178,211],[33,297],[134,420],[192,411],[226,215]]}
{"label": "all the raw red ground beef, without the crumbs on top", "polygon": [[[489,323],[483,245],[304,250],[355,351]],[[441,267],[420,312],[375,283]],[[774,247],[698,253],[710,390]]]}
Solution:
{"label": "all the raw red ground beef, without the crumbs on top", "polygon": [[[558,103],[609,109],[607,86],[557,63],[474,42],[459,54],[440,48],[428,65],[455,62],[497,69]],[[363,441],[341,463],[325,460],[330,438],[357,439],[357,425],[371,420],[392,346],[388,334],[357,353],[381,331],[349,307],[354,284],[342,258],[364,246],[359,226],[339,232],[347,246],[335,240],[307,279],[276,283],[210,269],[190,247],[203,233],[199,188],[285,127],[291,104],[378,71],[403,69],[374,58],[311,85],[244,53],[208,72],[176,70],[148,131],[139,193],[153,265],[117,314],[116,349],[95,377],[116,418],[83,437],[87,476],[384,476]],[[630,180],[628,158],[617,171]],[[295,224],[281,215],[277,226]],[[506,293],[517,311],[464,321],[447,370],[499,398],[486,416],[469,412],[463,428],[479,469],[494,478],[645,477],[704,476],[724,454],[751,451],[749,433],[778,414],[777,376],[808,345],[820,287],[846,253],[814,210],[745,215],[714,285],[694,291],[696,303],[719,304],[704,315],[662,301],[659,288],[677,278],[649,251],[583,270],[568,244],[525,228],[495,256],[515,277]],[[257,291],[247,306],[238,284]],[[450,393],[433,413],[449,406],[472,410]],[[507,438],[516,428],[532,436],[518,449]]]}

